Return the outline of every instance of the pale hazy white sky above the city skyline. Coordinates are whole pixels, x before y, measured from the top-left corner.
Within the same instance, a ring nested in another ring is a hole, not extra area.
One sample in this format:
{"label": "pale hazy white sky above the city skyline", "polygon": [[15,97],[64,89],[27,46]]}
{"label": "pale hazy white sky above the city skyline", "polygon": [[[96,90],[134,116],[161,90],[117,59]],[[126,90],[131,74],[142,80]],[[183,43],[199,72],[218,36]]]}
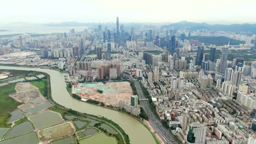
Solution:
{"label": "pale hazy white sky above the city skyline", "polygon": [[1,0],[0,24],[63,21],[256,23],[256,0]]}

